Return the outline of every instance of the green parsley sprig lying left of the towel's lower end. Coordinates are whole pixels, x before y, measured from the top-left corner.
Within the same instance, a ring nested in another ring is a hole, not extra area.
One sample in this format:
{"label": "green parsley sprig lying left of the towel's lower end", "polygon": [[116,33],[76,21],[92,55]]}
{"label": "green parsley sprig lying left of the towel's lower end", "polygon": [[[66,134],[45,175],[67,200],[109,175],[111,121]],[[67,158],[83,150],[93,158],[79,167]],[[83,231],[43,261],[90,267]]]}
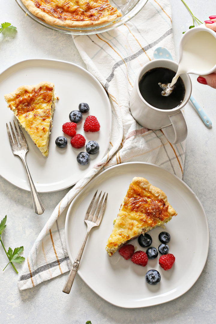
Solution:
{"label": "green parsley sprig lying left of the towel's lower end", "polygon": [[[4,249],[4,251],[6,253],[6,256],[7,256],[8,260],[9,260],[9,262],[6,265],[6,267],[8,266],[9,263],[11,263],[12,267],[14,268],[14,270],[18,273],[18,271],[15,268],[13,262],[15,262],[15,263],[22,263],[25,260],[24,257],[20,257],[19,256],[19,254],[21,252],[23,252],[24,248],[23,248],[23,246],[20,246],[19,248],[15,248],[14,251],[11,248],[9,248],[8,251],[6,251],[5,246],[4,246],[3,242],[2,242],[2,232],[6,228],[6,220],[7,220],[7,215],[5,216],[5,218],[2,219],[2,221],[0,223],[0,242],[1,242],[2,246],[3,246],[3,249]],[[5,268],[3,269],[3,271],[5,270]]]}

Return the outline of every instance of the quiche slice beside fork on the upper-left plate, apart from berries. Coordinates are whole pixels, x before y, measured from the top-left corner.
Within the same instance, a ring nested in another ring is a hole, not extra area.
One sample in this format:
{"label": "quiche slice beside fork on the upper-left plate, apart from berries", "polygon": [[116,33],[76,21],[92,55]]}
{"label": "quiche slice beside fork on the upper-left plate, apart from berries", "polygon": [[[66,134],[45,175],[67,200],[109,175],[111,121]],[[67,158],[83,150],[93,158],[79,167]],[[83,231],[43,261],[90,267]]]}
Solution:
{"label": "quiche slice beside fork on the upper-left plate, apart from berries", "polygon": [[43,156],[48,156],[56,100],[54,84],[40,82],[34,86],[21,86],[5,95],[5,100]]}

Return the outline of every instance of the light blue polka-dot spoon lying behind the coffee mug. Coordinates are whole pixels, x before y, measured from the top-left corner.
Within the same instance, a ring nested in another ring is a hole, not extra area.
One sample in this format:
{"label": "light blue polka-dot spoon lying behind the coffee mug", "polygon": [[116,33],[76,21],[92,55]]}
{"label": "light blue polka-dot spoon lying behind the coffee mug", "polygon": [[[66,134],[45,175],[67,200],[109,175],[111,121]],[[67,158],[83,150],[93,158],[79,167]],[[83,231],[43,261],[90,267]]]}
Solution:
{"label": "light blue polka-dot spoon lying behind the coffee mug", "polygon": [[[173,61],[173,58],[172,58],[172,55],[170,54],[170,52],[165,47],[161,47],[161,46],[157,47],[154,50],[153,57],[154,57],[154,59],[167,59],[167,60]],[[201,120],[204,122],[204,124],[207,127],[211,127],[212,122],[211,122],[210,118],[202,110],[202,108],[199,106],[199,103],[194,99],[193,96],[190,96],[190,101],[192,102],[193,106],[197,110],[197,112],[198,112]]]}

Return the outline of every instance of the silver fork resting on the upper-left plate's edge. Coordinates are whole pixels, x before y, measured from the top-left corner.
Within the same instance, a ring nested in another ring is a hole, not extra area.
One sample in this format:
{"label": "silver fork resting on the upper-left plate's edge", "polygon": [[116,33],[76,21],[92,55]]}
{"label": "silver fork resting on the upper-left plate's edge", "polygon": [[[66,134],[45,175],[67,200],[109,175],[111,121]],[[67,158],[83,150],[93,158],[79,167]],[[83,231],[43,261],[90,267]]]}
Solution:
{"label": "silver fork resting on the upper-left plate's edge", "polygon": [[[28,176],[28,182],[29,182],[29,185],[30,185],[31,197],[32,197],[32,200],[33,200],[33,203],[34,203],[35,213],[38,214],[38,215],[41,215],[44,212],[44,207],[43,207],[43,205],[41,203],[41,200],[40,200],[40,197],[39,197],[39,195],[38,195],[38,193],[37,193],[37,191],[35,189],[34,183],[32,181],[32,178],[31,178],[31,175],[30,175],[30,172],[28,170],[27,163],[26,163],[26,153],[28,152],[28,144],[26,142],[23,131],[21,130],[21,128],[20,128],[20,126],[18,124],[19,132],[20,132],[21,136],[19,135],[15,121],[14,121],[14,127],[15,127],[15,130],[16,130],[17,138],[15,136],[14,129],[13,129],[13,127],[11,125],[11,122],[10,122],[10,128],[11,128],[11,132],[12,132],[13,139],[14,139],[14,142],[13,142],[12,137],[11,137],[11,133],[9,131],[9,127],[8,127],[8,125],[6,123],[7,135],[8,135],[9,141],[10,141],[11,150],[12,150],[14,155],[19,156],[21,158],[21,160],[23,161],[23,164],[25,166],[25,170],[26,170],[26,173],[27,173],[27,176]],[[19,142],[20,146],[17,143],[17,139],[18,139],[18,142]]]}

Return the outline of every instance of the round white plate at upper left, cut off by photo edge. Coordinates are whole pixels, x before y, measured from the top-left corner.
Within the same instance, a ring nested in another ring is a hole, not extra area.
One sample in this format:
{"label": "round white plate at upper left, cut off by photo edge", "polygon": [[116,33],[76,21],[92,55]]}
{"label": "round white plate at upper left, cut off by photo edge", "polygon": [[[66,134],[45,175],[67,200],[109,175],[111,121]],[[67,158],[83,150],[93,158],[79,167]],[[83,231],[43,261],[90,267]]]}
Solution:
{"label": "round white plate at upper left, cut off by photo edge", "polygon": [[[106,91],[97,79],[82,67],[64,61],[49,59],[30,59],[19,62],[0,75],[0,134],[4,143],[1,144],[0,175],[15,186],[29,191],[24,166],[19,157],[14,156],[7,138],[6,122],[16,120],[12,111],[7,108],[4,95],[22,85],[34,85],[41,81],[54,83],[56,96],[53,127],[51,129],[49,156],[42,156],[29,135],[24,131],[29,146],[26,155],[28,168],[36,189],[40,192],[51,192],[65,189],[83,178],[90,169],[106,154],[111,134],[111,107]],[[98,142],[100,150],[90,156],[87,166],[76,161],[79,152],[70,144],[70,136],[62,131],[63,123],[70,121],[69,114],[78,110],[80,102],[87,102],[90,110],[83,114],[83,121],[77,124],[76,133],[84,135],[86,143],[91,140]],[[83,124],[88,115],[94,115],[100,123],[99,132],[84,132]],[[68,140],[66,148],[55,145],[58,136]]]}

